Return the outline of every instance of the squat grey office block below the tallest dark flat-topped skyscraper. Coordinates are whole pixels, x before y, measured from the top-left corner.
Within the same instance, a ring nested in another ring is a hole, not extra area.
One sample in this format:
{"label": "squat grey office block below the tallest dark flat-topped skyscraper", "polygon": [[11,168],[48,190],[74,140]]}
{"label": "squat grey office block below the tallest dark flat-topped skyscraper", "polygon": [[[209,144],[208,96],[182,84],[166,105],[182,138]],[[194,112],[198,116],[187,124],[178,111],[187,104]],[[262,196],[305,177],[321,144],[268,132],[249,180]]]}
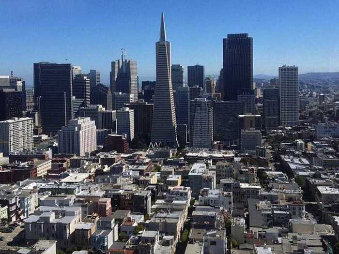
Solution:
{"label": "squat grey office block below the tallest dark flat-topped skyscraper", "polygon": [[254,154],[262,145],[262,133],[259,130],[241,130],[241,150]]}

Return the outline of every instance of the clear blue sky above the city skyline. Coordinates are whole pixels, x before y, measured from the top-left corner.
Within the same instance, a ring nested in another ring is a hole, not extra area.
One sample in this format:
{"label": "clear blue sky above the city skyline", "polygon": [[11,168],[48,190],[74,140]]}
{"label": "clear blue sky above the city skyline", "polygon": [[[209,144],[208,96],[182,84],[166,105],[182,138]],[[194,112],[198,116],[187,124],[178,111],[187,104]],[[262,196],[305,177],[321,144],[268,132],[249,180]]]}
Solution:
{"label": "clear blue sky above the city skyline", "polygon": [[306,0],[1,0],[0,75],[23,76],[32,64],[68,62],[97,69],[108,84],[110,61],[138,61],[139,76],[154,77],[155,42],[165,13],[172,63],[222,66],[222,38],[253,37],[254,74],[277,75],[282,64],[300,73],[339,71],[339,1]]}

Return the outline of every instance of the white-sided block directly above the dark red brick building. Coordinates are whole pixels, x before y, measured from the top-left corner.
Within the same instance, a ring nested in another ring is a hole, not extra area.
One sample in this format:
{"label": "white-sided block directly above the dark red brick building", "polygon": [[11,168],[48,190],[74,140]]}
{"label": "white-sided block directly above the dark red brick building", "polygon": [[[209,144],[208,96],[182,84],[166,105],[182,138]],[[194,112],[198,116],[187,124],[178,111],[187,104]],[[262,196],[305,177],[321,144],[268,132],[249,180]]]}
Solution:
{"label": "white-sided block directly above the dark red brick building", "polygon": [[126,134],[128,141],[134,138],[134,110],[122,107],[117,110],[117,134]]}

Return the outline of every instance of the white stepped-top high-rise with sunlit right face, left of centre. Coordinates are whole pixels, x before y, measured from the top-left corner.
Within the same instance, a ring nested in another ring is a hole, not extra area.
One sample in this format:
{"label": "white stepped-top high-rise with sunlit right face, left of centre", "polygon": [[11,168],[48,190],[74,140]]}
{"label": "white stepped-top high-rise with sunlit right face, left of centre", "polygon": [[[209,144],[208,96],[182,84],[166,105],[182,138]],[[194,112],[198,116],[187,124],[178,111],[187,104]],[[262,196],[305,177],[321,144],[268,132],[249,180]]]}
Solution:
{"label": "white stepped-top high-rise with sunlit right face, left of centre", "polygon": [[95,122],[89,117],[69,120],[68,125],[58,131],[59,153],[75,153],[87,156],[96,150]]}

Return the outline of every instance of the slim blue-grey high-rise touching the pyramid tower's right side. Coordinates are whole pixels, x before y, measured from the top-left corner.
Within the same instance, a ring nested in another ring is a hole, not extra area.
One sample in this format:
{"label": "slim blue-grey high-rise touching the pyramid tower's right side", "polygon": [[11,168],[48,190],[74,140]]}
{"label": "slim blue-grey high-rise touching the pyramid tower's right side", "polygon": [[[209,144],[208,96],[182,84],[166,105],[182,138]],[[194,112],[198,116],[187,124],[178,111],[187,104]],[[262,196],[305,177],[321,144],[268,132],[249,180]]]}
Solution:
{"label": "slim blue-grey high-rise touching the pyramid tower's right side", "polygon": [[189,90],[189,87],[179,87],[174,96],[177,124],[186,124],[187,131],[189,126]]}

